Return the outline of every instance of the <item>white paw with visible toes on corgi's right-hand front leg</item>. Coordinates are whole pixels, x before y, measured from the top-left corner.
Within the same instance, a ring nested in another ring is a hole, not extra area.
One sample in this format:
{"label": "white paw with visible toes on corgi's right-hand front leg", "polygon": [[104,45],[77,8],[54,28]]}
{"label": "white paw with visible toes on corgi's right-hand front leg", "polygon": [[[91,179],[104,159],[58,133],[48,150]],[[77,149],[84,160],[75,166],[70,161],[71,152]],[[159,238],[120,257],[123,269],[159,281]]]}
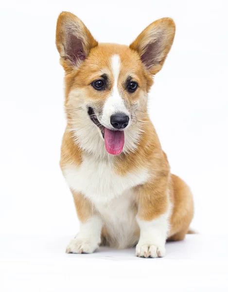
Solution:
{"label": "white paw with visible toes on corgi's right-hand front leg", "polygon": [[138,243],[136,246],[136,256],[139,257],[163,257],[165,247],[155,244]]}

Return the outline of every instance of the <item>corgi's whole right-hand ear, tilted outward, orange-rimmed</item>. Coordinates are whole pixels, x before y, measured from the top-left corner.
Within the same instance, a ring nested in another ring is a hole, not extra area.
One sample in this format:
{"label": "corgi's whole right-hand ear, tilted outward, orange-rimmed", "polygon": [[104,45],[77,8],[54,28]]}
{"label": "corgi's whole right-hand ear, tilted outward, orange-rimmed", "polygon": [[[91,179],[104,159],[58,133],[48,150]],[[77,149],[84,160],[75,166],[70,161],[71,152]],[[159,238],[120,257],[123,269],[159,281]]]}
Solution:
{"label": "corgi's whole right-hand ear, tilted outward, orange-rimmed", "polygon": [[145,28],[130,44],[137,51],[145,68],[152,74],[161,70],[173,44],[175,23],[171,18],[161,18]]}

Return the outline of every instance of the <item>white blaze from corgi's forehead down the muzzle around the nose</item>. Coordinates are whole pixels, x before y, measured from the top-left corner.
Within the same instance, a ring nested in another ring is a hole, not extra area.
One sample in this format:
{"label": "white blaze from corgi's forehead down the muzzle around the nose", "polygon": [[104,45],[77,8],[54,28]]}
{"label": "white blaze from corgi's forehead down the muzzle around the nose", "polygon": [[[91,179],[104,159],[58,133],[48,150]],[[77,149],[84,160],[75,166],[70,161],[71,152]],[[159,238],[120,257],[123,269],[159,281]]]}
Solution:
{"label": "white blaze from corgi's forehead down the muzzle around the nose", "polygon": [[[121,69],[121,59],[120,56],[115,54],[111,56],[110,59],[111,71],[114,78],[113,88],[111,94],[107,97],[102,115],[102,124],[104,126],[111,127],[110,117],[111,115],[122,112],[129,116],[129,111],[126,109],[123,98],[118,91],[118,79]],[[112,128],[112,127],[111,127]]]}

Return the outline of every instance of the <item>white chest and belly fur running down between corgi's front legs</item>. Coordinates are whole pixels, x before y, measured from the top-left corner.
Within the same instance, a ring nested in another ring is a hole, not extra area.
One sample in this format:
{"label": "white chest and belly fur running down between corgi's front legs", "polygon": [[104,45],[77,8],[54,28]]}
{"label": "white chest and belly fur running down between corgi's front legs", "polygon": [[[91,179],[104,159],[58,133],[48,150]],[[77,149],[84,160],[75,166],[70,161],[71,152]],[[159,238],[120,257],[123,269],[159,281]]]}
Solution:
{"label": "white chest and belly fur running down between corgi's front legs", "polygon": [[137,242],[133,187],[146,182],[146,169],[120,176],[114,172],[113,162],[84,158],[79,167],[66,165],[63,173],[70,188],[94,204],[113,247],[124,248]]}

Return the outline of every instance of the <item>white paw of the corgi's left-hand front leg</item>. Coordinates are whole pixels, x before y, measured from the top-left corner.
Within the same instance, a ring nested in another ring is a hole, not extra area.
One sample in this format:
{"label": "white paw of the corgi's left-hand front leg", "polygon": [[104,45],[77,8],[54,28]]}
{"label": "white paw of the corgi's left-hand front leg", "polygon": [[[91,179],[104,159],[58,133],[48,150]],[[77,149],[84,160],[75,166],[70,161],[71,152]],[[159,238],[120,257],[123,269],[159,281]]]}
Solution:
{"label": "white paw of the corgi's left-hand front leg", "polygon": [[67,246],[67,254],[92,254],[99,247],[99,242],[93,238],[76,236]]}

